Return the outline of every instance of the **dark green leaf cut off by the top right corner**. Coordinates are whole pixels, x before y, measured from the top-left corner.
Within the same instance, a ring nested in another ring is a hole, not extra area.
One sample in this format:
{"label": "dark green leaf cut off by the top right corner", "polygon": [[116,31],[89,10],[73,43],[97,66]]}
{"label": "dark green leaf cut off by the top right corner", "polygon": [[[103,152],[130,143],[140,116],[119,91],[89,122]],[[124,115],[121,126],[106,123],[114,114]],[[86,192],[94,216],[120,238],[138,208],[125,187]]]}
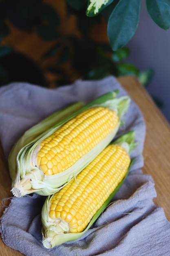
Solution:
{"label": "dark green leaf cut off by the top right corner", "polygon": [[146,0],[146,7],[152,20],[162,29],[170,27],[170,1]]}

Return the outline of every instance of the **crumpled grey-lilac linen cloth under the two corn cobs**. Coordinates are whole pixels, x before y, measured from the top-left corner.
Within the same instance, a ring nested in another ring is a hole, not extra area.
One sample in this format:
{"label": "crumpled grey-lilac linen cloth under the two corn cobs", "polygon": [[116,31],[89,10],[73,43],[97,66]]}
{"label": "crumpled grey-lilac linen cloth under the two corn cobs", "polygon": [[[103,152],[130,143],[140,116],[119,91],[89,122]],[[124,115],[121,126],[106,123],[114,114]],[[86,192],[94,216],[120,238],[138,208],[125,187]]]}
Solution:
{"label": "crumpled grey-lilac linen cloth under the two corn cobs", "polygon": [[[0,88],[0,140],[6,157],[25,130],[52,112],[75,101],[89,102],[105,92],[127,92],[113,76],[99,81],[75,81],[57,89],[27,83]],[[140,97],[140,95],[139,95]],[[161,207],[155,206],[154,182],[141,171],[145,123],[141,111],[131,100],[124,125],[117,136],[135,130],[138,146],[132,150],[135,164],[113,201],[84,236],[73,242],[46,249],[42,245],[41,208],[45,197],[32,194],[12,197],[0,220],[6,245],[26,256],[168,256],[170,222]]]}

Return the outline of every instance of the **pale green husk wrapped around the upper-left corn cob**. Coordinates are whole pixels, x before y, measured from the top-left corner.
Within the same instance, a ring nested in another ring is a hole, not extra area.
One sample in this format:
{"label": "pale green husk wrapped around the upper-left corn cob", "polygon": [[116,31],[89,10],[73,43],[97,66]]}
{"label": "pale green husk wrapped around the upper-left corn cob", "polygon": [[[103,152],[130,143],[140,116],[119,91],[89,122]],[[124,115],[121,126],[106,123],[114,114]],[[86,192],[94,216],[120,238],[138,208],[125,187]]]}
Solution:
{"label": "pale green husk wrapped around the upper-left corn cob", "polygon": [[[117,127],[99,144],[92,148],[86,155],[80,158],[73,166],[67,170],[54,175],[45,175],[38,167],[33,166],[33,152],[38,144],[46,137],[49,137],[53,132],[60,128],[71,118],[75,117],[82,111],[94,107],[103,106],[117,111],[119,120],[128,110],[130,98],[128,96],[116,98],[118,90],[108,92],[101,97],[95,99],[91,103],[79,108],[75,111],[75,106],[72,109],[66,108],[50,116],[37,126],[29,129],[22,138],[15,144],[9,155],[9,169],[12,178],[11,192],[16,197],[21,197],[30,193],[38,193],[39,195],[52,195],[65,186],[75,175],[84,169],[115,137]],[[77,103],[82,104],[82,103]],[[67,111],[69,115],[67,115]],[[70,114],[71,113],[71,114]],[[62,116],[63,115],[63,116]],[[55,119],[55,125],[51,119]],[[63,118],[64,117],[64,118]],[[41,134],[39,133],[42,132]]]}

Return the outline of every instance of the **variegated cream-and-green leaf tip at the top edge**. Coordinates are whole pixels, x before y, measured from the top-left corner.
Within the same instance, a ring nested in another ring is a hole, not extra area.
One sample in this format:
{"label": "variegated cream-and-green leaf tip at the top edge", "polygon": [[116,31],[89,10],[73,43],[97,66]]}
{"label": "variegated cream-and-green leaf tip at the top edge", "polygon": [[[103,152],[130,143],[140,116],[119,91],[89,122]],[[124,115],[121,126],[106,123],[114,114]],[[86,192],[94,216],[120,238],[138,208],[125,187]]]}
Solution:
{"label": "variegated cream-and-green leaf tip at the top edge", "polygon": [[106,6],[108,6],[113,0],[88,0],[88,6],[86,9],[86,15],[88,17],[96,16]]}

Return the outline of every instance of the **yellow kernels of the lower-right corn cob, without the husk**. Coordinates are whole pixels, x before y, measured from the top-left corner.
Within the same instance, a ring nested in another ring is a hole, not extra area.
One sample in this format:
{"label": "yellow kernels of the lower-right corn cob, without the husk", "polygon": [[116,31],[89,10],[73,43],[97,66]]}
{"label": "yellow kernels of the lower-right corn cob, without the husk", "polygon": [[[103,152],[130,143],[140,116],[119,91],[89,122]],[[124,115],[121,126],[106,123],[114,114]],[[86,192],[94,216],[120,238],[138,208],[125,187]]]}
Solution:
{"label": "yellow kernels of the lower-right corn cob, without the husk", "polygon": [[57,220],[56,216],[60,216],[68,223],[70,233],[82,232],[124,178],[129,165],[130,157],[124,148],[107,146],[77,175],[76,180],[71,180],[53,195],[50,217]]}

